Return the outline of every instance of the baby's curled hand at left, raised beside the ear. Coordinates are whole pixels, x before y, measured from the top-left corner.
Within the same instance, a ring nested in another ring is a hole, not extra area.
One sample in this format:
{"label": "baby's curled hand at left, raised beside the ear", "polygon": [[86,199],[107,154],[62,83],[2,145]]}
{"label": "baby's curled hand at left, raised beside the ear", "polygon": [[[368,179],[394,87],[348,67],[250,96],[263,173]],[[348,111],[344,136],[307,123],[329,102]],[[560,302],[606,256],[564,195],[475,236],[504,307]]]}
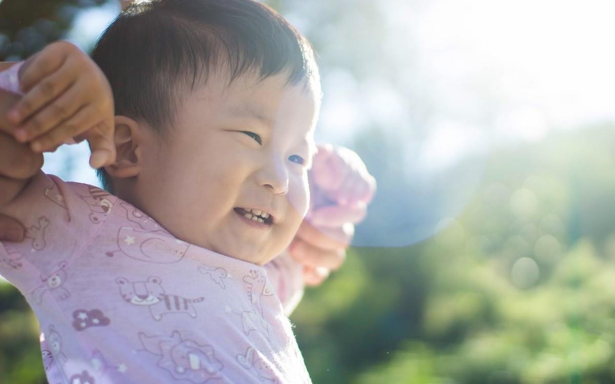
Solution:
{"label": "baby's curled hand at left, raised beside the ear", "polygon": [[87,139],[90,165],[113,163],[113,94],[105,74],[75,45],[58,41],[19,69],[22,100],[9,112],[15,138],[34,152]]}

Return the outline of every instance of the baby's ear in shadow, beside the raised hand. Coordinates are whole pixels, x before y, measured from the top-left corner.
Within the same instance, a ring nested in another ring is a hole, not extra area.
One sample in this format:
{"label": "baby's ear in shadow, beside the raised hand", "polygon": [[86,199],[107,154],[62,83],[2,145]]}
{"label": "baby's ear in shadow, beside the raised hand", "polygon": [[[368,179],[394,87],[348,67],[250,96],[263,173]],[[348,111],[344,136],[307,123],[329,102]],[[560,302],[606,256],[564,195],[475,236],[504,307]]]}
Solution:
{"label": "baby's ear in shadow, beside the raised hand", "polygon": [[116,146],[116,162],[105,167],[114,178],[132,178],[141,172],[140,154],[143,127],[137,120],[126,116],[115,117],[113,141]]}

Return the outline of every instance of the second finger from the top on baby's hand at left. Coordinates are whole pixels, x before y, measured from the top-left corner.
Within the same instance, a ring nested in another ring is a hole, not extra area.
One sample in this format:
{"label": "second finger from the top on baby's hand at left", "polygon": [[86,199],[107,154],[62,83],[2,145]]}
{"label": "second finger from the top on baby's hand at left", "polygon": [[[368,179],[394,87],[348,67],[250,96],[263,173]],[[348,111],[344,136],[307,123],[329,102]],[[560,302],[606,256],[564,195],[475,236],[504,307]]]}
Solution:
{"label": "second finger from the top on baby's hand at left", "polygon": [[[15,123],[22,123],[24,120],[30,119],[36,111],[39,111],[71,87],[75,80],[74,73],[73,68],[63,65],[58,71],[42,79],[9,112],[10,119]],[[60,108],[57,111],[60,121],[68,117],[66,113],[63,113],[62,104],[56,104],[54,101],[50,106]]]}

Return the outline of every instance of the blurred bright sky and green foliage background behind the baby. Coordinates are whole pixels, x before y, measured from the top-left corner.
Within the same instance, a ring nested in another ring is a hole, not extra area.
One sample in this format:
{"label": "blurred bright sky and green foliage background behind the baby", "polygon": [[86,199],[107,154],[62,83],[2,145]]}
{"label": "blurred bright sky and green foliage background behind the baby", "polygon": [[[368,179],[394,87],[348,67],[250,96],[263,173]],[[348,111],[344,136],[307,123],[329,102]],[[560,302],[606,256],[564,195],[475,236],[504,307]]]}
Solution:
{"label": "blurred bright sky and green foliage background behind the baby", "polygon": [[[317,139],[378,194],[291,320],[314,383],[615,383],[612,1],[268,1],[312,41]],[[117,0],[0,0],[0,60],[89,50]],[[87,145],[44,170],[97,184]],[[0,280],[0,383],[45,383]]]}

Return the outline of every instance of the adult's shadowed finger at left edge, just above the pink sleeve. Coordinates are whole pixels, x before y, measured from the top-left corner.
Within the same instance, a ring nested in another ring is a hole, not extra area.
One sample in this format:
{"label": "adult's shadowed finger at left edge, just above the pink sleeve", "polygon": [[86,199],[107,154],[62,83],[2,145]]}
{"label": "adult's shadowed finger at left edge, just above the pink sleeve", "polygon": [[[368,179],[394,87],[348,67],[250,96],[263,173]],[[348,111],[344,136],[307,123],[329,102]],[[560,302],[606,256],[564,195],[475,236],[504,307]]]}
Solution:
{"label": "adult's shadowed finger at left edge, just above the pink sleeve", "polygon": [[42,154],[31,151],[28,144],[0,132],[0,176],[11,179],[26,179],[41,169]]}

